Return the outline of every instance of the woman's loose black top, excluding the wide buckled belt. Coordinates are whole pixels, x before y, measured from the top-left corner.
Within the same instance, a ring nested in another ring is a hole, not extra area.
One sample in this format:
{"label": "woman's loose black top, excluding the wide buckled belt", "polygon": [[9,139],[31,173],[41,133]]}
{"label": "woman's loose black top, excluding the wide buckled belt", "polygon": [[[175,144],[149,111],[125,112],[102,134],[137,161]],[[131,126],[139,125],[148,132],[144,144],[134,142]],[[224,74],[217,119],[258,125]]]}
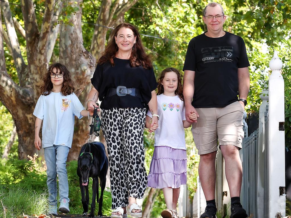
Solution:
{"label": "woman's loose black top, excluding the wide buckled belt", "polygon": [[[142,66],[131,67],[129,60],[114,58],[114,67],[110,62],[97,65],[91,83],[99,92],[100,108],[145,108],[152,98],[152,91],[157,87],[154,70]],[[131,95],[105,97],[109,88],[122,85],[136,88],[141,92],[142,99]]]}

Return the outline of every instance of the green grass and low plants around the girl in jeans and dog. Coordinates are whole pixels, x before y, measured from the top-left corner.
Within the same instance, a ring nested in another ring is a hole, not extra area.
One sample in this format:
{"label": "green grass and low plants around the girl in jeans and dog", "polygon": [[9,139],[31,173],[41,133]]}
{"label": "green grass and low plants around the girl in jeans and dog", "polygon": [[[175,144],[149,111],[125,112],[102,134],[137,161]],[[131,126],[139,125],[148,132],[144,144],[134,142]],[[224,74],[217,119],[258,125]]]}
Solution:
{"label": "green grass and low plants around the girl in jeans and dog", "polygon": [[[41,161],[0,160],[0,217],[18,218],[45,214],[48,208],[47,175]],[[82,214],[81,191],[77,176],[77,161],[67,163],[70,213]],[[92,200],[92,178],[89,181],[89,211]],[[99,194],[101,193],[99,187]],[[1,203],[2,201],[2,203]],[[3,206],[2,206],[3,204]],[[96,202],[95,216],[98,212]],[[5,208],[5,210],[3,209]],[[104,191],[102,213],[111,214],[111,193]],[[6,211],[6,214],[4,214]]]}

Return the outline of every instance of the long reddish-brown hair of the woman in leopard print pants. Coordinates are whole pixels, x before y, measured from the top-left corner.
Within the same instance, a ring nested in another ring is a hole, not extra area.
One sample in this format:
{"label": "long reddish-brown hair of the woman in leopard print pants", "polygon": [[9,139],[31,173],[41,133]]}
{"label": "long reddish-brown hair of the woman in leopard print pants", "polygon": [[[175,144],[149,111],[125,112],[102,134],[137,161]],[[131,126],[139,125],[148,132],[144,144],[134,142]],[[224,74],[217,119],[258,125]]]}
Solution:
{"label": "long reddish-brown hair of the woman in leopard print pants", "polygon": [[134,36],[136,36],[136,41],[134,46],[132,47],[132,52],[129,58],[129,63],[131,67],[142,66],[145,69],[152,68],[152,62],[150,60],[150,56],[145,53],[145,49],[143,48],[143,44],[141,42],[141,36],[139,35],[139,31],[135,26],[129,23],[119,24],[114,28],[111,33],[110,40],[102,53],[102,57],[98,60],[98,64],[103,64],[105,62],[110,62],[112,66],[114,66],[113,59],[118,51],[118,46],[115,43],[115,36],[117,37],[118,31],[122,28],[129,28],[132,30]]}

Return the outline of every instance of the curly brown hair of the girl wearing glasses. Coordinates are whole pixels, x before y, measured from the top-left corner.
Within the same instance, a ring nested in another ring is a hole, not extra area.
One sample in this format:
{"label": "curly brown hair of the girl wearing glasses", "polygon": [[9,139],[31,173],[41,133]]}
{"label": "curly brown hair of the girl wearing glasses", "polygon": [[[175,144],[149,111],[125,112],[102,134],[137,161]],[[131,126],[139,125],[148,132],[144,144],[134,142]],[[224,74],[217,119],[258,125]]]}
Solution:
{"label": "curly brown hair of the girl wearing glasses", "polygon": [[59,70],[63,74],[64,81],[61,94],[64,96],[72,94],[76,90],[75,83],[71,78],[68,68],[61,63],[52,63],[47,67],[47,72],[43,75],[42,84],[40,85],[40,94],[46,96],[52,92],[53,84],[51,81],[51,73],[54,73],[53,69]]}

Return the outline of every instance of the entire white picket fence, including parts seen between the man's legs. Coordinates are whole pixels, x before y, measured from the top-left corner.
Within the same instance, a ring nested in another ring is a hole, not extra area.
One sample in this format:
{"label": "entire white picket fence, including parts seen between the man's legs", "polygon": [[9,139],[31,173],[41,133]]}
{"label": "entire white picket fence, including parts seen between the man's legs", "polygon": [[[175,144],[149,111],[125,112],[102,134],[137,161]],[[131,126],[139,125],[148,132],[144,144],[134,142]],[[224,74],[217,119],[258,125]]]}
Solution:
{"label": "entire white picket fence, including parts seen between the man's legs", "polygon": [[[243,164],[241,202],[253,218],[285,217],[284,80],[282,61],[276,51],[269,67],[272,70],[269,89],[260,96],[259,127],[248,136],[244,122],[245,137],[240,151]],[[220,150],[216,157],[216,171],[215,199],[218,211],[224,217],[230,214],[230,194]],[[200,217],[204,212],[206,201],[199,178],[197,187],[192,204],[188,200],[187,188],[181,190],[179,217]]]}

